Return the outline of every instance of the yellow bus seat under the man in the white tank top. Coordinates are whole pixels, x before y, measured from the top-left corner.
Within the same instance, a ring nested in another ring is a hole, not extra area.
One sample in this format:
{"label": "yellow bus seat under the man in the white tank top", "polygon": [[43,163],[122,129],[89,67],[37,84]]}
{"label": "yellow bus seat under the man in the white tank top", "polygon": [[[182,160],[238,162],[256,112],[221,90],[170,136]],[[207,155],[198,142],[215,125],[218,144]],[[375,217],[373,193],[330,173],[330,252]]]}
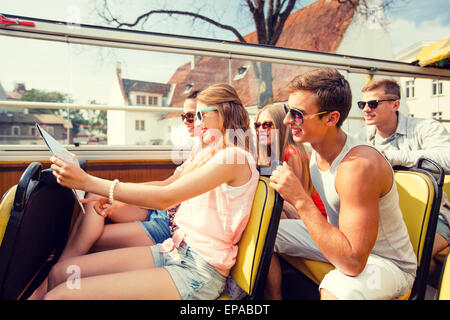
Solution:
{"label": "yellow bus seat under the man in the white tank top", "polygon": [[[415,170],[420,172],[411,169],[395,171],[394,173],[400,208],[419,264],[413,290],[410,290],[400,299],[423,299],[438,213],[438,195],[435,192],[435,190],[438,190],[436,180],[424,170]],[[319,284],[324,276],[334,269],[333,265],[321,261],[284,254],[280,256],[316,284]],[[428,261],[424,263],[427,259]]]}

